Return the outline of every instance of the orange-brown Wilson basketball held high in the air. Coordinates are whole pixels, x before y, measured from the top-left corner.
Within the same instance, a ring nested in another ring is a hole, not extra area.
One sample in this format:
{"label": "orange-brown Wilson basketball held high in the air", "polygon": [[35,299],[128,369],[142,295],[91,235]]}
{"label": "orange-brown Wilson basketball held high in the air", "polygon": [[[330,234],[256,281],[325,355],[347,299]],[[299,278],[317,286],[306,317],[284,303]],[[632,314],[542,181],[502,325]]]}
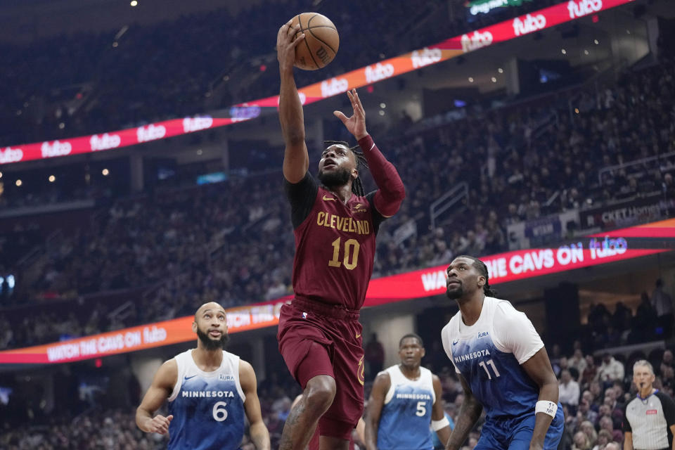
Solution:
{"label": "orange-brown Wilson basketball held high in the air", "polygon": [[302,70],[325,68],[338,53],[338,29],[329,18],[319,13],[298,14],[293,18],[291,27],[298,23],[300,31],[295,35],[304,33],[304,42],[295,47],[295,67]]}

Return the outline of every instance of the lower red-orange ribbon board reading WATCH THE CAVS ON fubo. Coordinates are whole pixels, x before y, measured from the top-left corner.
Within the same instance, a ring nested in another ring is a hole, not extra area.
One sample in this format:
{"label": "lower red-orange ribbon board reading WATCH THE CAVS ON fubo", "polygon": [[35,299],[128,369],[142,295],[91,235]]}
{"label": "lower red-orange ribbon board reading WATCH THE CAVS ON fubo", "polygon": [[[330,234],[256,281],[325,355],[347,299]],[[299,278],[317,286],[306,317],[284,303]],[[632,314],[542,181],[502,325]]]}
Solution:
{"label": "lower red-orange ribbon board reading WATCH THE CAVS ON fubo", "polygon": [[[655,243],[659,243],[658,248]],[[508,283],[610,262],[670,252],[675,248],[675,219],[579,237],[551,248],[529,248],[481,257],[490,284]],[[447,264],[373,278],[364,307],[442,295]],[[226,309],[229,333],[276,326],[291,296]],[[194,342],[194,316],[147,323],[98,335],[0,352],[0,364],[55,364],[136,352],[179,342]]]}

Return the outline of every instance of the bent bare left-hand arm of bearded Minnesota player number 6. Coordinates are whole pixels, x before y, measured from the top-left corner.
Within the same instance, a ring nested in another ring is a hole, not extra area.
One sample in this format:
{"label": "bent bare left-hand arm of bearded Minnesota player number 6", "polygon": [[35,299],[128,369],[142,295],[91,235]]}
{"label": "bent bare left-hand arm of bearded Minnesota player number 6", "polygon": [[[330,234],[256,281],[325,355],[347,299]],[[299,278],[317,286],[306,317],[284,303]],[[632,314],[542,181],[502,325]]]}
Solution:
{"label": "bent bare left-hand arm of bearded Minnesota player number 6", "polygon": [[153,415],[171,395],[176,380],[178,380],[178,364],[175,359],[169,359],[155,373],[153,384],[150,385],[143,401],[136,409],[136,425],[144,432],[160,435],[166,435],[169,432],[169,423],[174,416],[165,417],[158,414],[153,417]]}

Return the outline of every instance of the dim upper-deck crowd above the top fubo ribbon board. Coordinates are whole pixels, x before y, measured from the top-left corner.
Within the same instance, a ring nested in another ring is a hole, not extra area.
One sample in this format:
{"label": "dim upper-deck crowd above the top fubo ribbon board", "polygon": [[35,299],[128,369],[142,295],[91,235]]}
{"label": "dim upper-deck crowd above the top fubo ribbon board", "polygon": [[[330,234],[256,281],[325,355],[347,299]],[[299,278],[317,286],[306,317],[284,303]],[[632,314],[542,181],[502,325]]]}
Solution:
{"label": "dim upper-deck crowd above the top fubo ribbon board", "polygon": [[[448,11],[449,2],[440,0],[399,8],[354,2],[349,11],[328,1],[264,0],[236,15],[222,8],[126,24],[117,37],[120,30],[1,44],[0,141],[8,146],[113,131],[278,94],[279,18],[304,11],[331,18],[349,49],[324,70],[330,77],[553,3],[525,2],[468,23],[463,7]],[[354,37],[369,45],[350,42]],[[316,82],[302,72],[298,77],[299,85]]]}

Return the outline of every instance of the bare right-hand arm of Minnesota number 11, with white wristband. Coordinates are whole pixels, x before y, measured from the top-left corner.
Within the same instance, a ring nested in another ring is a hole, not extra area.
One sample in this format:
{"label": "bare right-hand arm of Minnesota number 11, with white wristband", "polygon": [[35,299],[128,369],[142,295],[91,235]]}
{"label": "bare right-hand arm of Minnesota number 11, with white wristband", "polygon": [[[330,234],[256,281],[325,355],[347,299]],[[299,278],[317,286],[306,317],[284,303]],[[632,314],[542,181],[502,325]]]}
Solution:
{"label": "bare right-hand arm of Minnesota number 11, with white wristband", "polygon": [[[532,378],[534,383],[539,386],[539,401],[553,401],[558,404],[558,379],[555,378],[551,361],[548,360],[546,348],[541,347],[532,358],[525,361],[522,365],[529,378]],[[534,432],[532,432],[532,441],[529,443],[529,448],[543,449],[544,437],[548,426],[551,425],[553,417],[546,413],[536,413],[534,422]]]}

